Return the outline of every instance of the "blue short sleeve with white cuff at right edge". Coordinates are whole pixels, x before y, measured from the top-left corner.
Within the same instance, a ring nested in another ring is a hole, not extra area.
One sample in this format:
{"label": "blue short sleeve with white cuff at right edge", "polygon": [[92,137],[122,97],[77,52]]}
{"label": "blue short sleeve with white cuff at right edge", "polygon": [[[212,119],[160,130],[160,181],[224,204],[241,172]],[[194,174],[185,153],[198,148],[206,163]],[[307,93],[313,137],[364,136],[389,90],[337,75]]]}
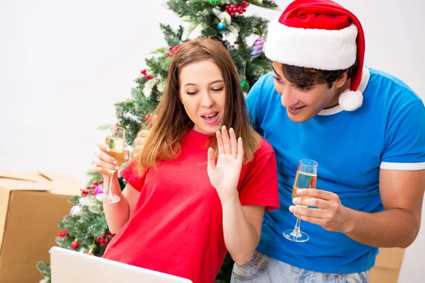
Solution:
{"label": "blue short sleeve with white cuff at right edge", "polygon": [[380,168],[425,169],[425,107],[421,100],[391,110]]}

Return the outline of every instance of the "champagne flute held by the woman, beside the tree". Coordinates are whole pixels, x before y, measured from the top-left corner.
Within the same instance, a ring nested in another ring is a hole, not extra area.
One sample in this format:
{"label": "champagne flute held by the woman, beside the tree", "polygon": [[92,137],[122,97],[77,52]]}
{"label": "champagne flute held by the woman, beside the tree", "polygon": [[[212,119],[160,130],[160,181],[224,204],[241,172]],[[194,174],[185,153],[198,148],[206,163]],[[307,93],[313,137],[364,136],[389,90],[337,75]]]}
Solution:
{"label": "champagne flute held by the woman, beside the tree", "polygon": [[[106,151],[111,157],[115,158],[118,162],[117,166],[121,167],[124,160],[124,149],[125,149],[125,129],[122,127],[110,127],[107,129],[108,134],[106,135],[106,145],[111,149]],[[115,170],[106,169],[108,171],[108,182],[103,184],[103,192],[96,195],[96,199],[101,202],[115,203],[120,201],[118,195],[113,195],[111,192],[112,177]]]}

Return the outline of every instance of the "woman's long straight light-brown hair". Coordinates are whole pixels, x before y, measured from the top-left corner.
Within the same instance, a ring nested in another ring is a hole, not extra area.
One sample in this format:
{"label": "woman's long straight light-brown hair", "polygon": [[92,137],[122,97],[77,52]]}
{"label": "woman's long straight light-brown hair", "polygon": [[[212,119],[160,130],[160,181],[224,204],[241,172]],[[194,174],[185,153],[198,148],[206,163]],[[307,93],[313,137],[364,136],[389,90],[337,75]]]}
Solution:
{"label": "woman's long straight light-brown hair", "polygon": [[[179,72],[187,64],[207,59],[212,59],[220,68],[225,81],[226,98],[223,125],[227,129],[232,127],[236,137],[242,137],[244,162],[254,158],[254,153],[260,143],[260,136],[251,127],[244,93],[232,57],[217,40],[198,38],[183,43],[171,60],[166,88],[154,111],[158,117],[150,129],[149,137],[139,157],[141,172],[155,167],[159,161],[174,160],[179,156],[181,140],[194,126],[180,100]],[[147,121],[148,123],[149,121]],[[206,146],[217,149],[215,135],[212,136],[210,144]],[[206,158],[205,152],[205,162]]]}

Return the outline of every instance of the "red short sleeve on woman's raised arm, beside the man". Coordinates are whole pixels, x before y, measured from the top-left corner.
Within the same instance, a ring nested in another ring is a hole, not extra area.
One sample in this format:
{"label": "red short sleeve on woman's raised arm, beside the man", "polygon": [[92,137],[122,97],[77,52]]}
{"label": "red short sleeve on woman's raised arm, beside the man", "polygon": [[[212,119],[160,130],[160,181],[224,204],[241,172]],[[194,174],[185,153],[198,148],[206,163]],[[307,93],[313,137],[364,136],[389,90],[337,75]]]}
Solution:
{"label": "red short sleeve on woman's raised arm, beside the man", "polygon": [[242,205],[266,207],[266,211],[279,208],[278,171],[273,149],[261,141],[260,149],[249,165],[239,187]]}

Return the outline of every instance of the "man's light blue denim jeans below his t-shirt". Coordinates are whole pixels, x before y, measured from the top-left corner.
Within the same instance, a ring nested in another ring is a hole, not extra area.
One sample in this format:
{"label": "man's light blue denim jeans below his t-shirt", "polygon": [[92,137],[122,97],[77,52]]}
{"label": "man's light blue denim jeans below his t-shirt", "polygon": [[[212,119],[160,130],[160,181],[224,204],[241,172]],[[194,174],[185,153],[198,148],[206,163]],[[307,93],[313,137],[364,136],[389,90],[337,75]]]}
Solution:
{"label": "man's light blue denim jeans below his t-shirt", "polygon": [[233,266],[231,283],[368,283],[369,271],[358,273],[322,273],[288,265],[254,251],[244,266]]}

